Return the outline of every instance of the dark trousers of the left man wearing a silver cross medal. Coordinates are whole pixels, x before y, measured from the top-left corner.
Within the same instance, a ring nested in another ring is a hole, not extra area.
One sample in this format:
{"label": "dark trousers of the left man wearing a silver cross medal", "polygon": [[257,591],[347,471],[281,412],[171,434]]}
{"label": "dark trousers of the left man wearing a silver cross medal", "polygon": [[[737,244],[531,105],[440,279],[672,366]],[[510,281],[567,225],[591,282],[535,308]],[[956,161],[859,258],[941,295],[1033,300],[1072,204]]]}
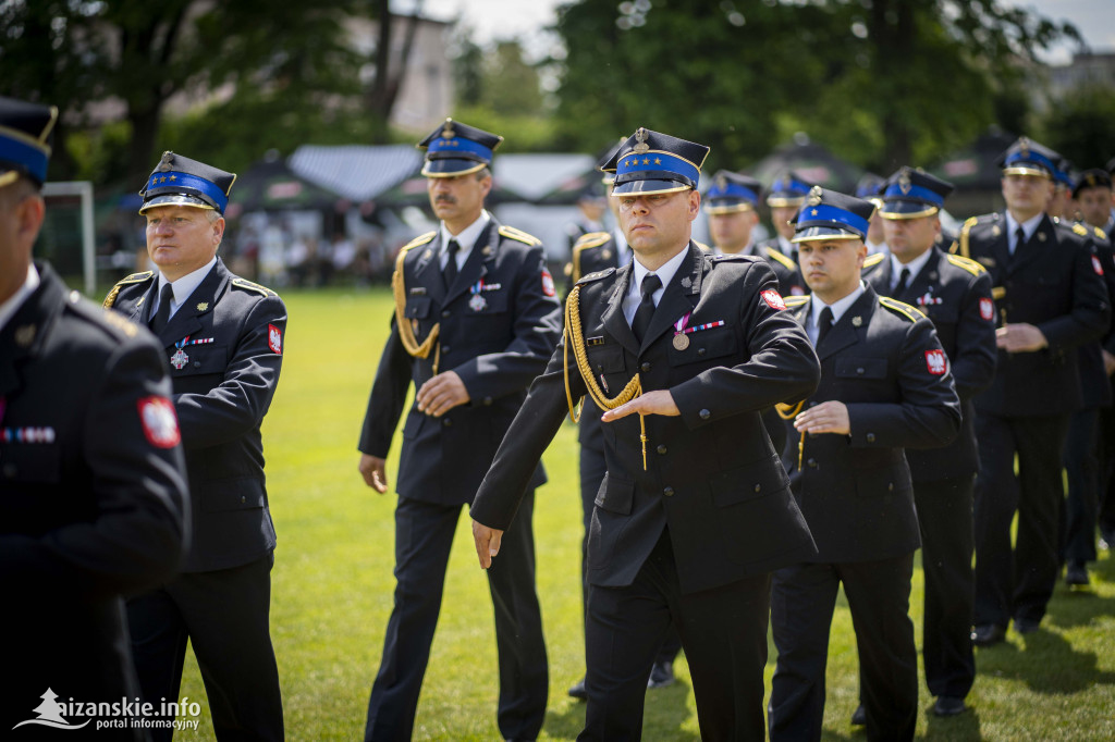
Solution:
{"label": "dark trousers of the left man wearing a silver cross medal", "polygon": [[[186,642],[205,683],[219,740],[282,740],[282,696],[271,646],[274,553],[231,569],[183,573],[127,603],[143,697],[178,700]],[[173,730],[152,730],[169,740]]]}

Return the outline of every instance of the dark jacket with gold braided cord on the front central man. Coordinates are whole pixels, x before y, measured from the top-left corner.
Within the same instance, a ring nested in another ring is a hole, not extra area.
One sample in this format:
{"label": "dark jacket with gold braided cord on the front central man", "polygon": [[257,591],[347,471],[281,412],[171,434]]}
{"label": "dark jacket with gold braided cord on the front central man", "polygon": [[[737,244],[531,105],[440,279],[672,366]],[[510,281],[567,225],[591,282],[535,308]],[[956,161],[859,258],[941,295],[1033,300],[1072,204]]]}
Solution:
{"label": "dark jacket with gold braided cord on the front central man", "polygon": [[[644,391],[668,389],[680,417],[649,416],[643,470],[639,416],[603,426],[608,475],[589,534],[592,585],[630,585],[667,526],[680,589],[695,593],[801,562],[813,544],[759,410],[808,393],[816,357],[776,309],[774,274],[752,257],[711,256],[690,243],[640,346],[623,315],[632,267],[581,280],[589,362],[615,396],[639,373]],[[762,295],[766,292],[766,297]],[[673,323],[723,321],[672,344]],[[531,469],[568,412],[565,342],[531,385],[472,508],[506,529]],[[586,388],[570,349],[573,400]]]}

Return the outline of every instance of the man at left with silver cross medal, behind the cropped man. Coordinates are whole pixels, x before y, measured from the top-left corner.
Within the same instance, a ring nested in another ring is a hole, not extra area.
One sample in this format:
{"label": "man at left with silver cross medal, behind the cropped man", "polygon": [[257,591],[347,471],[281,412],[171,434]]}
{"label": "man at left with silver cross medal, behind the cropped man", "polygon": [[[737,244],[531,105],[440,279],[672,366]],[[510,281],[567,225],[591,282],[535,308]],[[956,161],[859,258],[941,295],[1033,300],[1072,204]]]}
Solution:
{"label": "man at left with silver cross medal, behind the cropped man", "polygon": [[182,574],[129,599],[128,624],[146,701],[178,697],[188,641],[216,735],[281,740],[260,426],[279,383],[287,307],[216,256],[235,178],[164,153],[139,192],[159,272],[130,275],[105,299],[149,325],[171,364],[193,506]]}

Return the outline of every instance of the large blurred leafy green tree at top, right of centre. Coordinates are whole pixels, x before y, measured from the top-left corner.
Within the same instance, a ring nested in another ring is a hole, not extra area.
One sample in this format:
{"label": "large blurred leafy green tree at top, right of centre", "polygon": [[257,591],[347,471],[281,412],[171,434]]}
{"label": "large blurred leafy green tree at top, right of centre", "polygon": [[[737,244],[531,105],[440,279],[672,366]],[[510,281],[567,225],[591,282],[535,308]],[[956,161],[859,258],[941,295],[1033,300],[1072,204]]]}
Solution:
{"label": "large blurred leafy green tree at top, right of centre", "polygon": [[581,0],[556,30],[571,146],[648,126],[739,167],[803,130],[876,172],[964,144],[1038,50],[1079,38],[997,0]]}

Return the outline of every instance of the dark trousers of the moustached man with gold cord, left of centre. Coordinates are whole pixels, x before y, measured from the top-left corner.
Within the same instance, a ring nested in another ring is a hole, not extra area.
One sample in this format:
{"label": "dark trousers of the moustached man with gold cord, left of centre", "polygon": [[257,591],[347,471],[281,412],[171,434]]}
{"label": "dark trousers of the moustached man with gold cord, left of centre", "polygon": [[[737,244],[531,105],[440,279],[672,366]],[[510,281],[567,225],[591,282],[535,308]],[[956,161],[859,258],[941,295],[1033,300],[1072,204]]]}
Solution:
{"label": "dark trousers of the moustached man with gold cord, left of centre", "polygon": [[[368,700],[365,740],[409,740],[460,505],[400,497],[395,509],[395,607]],[[487,570],[500,664],[496,721],[506,739],[533,740],[549,693],[542,614],[534,589],[534,490],[523,496]],[[478,677],[478,680],[483,680]]]}

